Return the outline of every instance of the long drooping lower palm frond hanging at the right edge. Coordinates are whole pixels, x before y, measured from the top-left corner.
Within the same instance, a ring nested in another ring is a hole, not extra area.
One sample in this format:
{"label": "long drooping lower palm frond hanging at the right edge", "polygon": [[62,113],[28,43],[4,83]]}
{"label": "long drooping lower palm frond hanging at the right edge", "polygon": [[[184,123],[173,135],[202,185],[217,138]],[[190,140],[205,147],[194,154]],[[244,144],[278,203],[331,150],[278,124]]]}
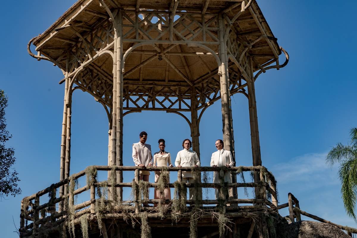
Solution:
{"label": "long drooping lower palm frond hanging at the right edge", "polygon": [[341,163],[339,172],[341,179],[341,194],[348,216],[356,220],[355,207],[357,201],[356,181],[351,177],[351,160]]}

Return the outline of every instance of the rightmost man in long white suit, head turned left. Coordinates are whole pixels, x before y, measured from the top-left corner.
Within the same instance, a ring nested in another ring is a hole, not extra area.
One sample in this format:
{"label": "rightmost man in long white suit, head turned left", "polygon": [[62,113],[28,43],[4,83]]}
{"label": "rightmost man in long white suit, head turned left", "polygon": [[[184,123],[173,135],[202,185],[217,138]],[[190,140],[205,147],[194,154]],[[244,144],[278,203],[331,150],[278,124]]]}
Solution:
{"label": "rightmost man in long white suit, head turned left", "polygon": [[[221,167],[221,166],[226,166],[227,168],[230,168],[231,166],[233,166],[234,162],[233,162],[233,157],[232,157],[232,153],[230,151],[227,151],[225,149],[223,149],[223,141],[222,140],[217,140],[216,141],[216,148],[217,151],[212,153],[212,157],[211,157],[211,167]],[[213,173],[213,183],[220,183],[220,172],[215,171]],[[231,183],[232,179],[231,179],[231,173],[229,171],[226,171],[224,173],[224,182],[228,182]],[[230,188],[232,189],[232,188]],[[215,197],[216,199],[219,198],[219,191],[216,188],[216,192],[215,192]]]}

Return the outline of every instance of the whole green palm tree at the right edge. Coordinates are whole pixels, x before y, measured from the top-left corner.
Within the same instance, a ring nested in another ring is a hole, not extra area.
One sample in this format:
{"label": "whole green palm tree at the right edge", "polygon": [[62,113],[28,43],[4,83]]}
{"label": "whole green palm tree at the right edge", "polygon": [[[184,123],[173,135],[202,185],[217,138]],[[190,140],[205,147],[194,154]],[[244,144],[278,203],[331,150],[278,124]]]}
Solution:
{"label": "whole green palm tree at the right edge", "polygon": [[355,207],[357,202],[357,128],[350,130],[351,144],[337,143],[326,156],[326,163],[333,166],[340,163],[338,175],[341,180],[341,194],[345,209],[356,221]]}

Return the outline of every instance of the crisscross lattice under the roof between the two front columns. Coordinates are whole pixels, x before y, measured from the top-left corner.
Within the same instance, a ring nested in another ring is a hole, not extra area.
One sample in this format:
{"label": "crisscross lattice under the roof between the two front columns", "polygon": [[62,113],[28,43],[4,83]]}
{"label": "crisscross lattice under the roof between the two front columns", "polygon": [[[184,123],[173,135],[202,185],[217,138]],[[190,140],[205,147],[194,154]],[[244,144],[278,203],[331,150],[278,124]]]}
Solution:
{"label": "crisscross lattice under the roof between the two front columns", "polygon": [[[197,20],[198,16],[199,20]],[[198,13],[176,12],[173,17],[175,20],[171,24],[169,12],[123,11],[123,18],[128,22],[128,24],[123,24],[125,32],[123,40],[124,42],[147,42],[150,40],[165,44],[175,35],[177,40],[207,45],[219,44],[218,27],[216,27],[217,15],[202,17],[202,14]],[[156,22],[153,20],[154,18],[157,19]]]}

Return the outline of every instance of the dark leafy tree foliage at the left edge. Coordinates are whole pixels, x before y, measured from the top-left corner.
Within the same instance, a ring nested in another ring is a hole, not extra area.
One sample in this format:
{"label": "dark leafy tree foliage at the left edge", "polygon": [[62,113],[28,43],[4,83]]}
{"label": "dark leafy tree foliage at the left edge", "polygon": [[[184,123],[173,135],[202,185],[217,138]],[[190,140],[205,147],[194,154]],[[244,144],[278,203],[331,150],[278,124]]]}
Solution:
{"label": "dark leafy tree foliage at the left edge", "polygon": [[21,194],[18,187],[20,181],[18,173],[12,166],[15,164],[14,148],[6,148],[5,142],[12,136],[6,131],[5,108],[7,107],[7,97],[3,90],[0,90],[0,199]]}

